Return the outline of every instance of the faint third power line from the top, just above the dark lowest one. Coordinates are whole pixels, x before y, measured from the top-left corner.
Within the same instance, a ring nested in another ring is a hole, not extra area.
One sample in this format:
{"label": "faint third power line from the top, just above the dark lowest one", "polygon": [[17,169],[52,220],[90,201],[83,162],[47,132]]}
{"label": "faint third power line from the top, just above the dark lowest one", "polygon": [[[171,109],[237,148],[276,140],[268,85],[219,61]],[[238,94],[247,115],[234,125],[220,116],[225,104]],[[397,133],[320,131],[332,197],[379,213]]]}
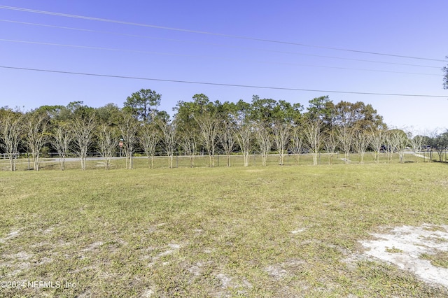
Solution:
{"label": "faint third power line from the top, just above the dark lowest one", "polygon": [[[0,38],[0,41],[6,41],[11,43],[28,43],[34,45],[53,45],[65,48],[82,48],[82,49],[90,49],[90,50],[109,50],[114,52],[137,52],[139,54],[149,54],[149,55],[169,55],[169,56],[178,56],[178,57],[196,57],[196,58],[208,58],[208,59],[216,59],[221,61],[239,61],[237,59],[230,59],[224,57],[214,57],[214,56],[206,56],[206,55],[184,55],[184,54],[176,54],[170,52],[150,52],[150,51],[142,51],[142,50],[125,50],[118,48],[102,48],[102,47],[91,47],[87,45],[66,45],[62,43],[43,43],[40,41],[18,41],[13,39],[3,39]],[[342,69],[342,70],[350,70],[350,71],[371,71],[371,72],[379,72],[379,73],[403,73],[403,74],[412,74],[412,75],[421,75],[421,76],[442,76],[441,74],[434,73],[414,73],[407,71],[386,71],[386,70],[378,70],[378,69],[356,69],[351,67],[342,67],[342,66],[323,66],[323,65],[314,65],[314,64],[297,64],[297,63],[286,63],[286,62],[268,62],[268,61],[258,61],[258,60],[249,60],[244,59],[244,62],[255,62],[262,64],[276,64],[276,65],[288,65],[288,66],[305,66],[305,67],[316,67],[323,69]]]}

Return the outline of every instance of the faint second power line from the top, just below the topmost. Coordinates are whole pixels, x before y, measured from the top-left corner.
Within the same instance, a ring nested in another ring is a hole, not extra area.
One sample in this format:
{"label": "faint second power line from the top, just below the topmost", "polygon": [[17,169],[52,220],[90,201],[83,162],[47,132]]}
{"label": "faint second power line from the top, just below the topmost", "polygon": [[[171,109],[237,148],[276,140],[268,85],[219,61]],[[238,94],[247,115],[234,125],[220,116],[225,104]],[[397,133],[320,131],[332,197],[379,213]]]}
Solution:
{"label": "faint second power line from the top, just below the topmost", "polygon": [[261,49],[261,48],[247,48],[247,47],[239,47],[239,46],[235,46],[235,45],[223,45],[223,44],[219,44],[219,43],[204,43],[204,42],[200,42],[200,41],[186,41],[186,40],[174,39],[174,38],[160,38],[160,37],[137,35],[137,34],[126,34],[126,33],[118,33],[118,32],[111,32],[111,31],[100,31],[100,30],[93,30],[93,29],[83,29],[83,28],[56,26],[56,25],[50,25],[50,24],[38,24],[38,23],[31,23],[31,22],[19,22],[19,21],[13,21],[13,20],[0,20],[0,22],[10,22],[10,23],[15,23],[15,24],[27,24],[27,25],[31,25],[31,26],[40,26],[40,27],[49,27],[49,28],[57,28],[57,29],[68,29],[68,30],[76,30],[76,31],[85,31],[85,32],[92,32],[92,33],[99,33],[99,34],[113,34],[113,35],[118,35],[118,36],[129,36],[129,37],[135,37],[135,38],[149,38],[149,39],[155,39],[155,40],[160,40],[160,41],[174,41],[174,42],[179,42],[179,43],[193,43],[193,44],[200,44],[200,45],[213,45],[213,46],[221,47],[221,48],[237,48],[237,49],[242,49],[242,50],[257,50],[257,51],[262,51],[262,52],[276,52],[276,53],[279,53],[279,54],[288,54],[288,55],[302,55],[302,56],[308,56],[308,57],[342,59],[342,60],[357,61],[357,62],[371,62],[371,63],[379,63],[379,64],[392,64],[392,65],[403,65],[403,66],[426,67],[426,68],[430,68],[430,69],[440,69],[440,66],[429,66],[429,65],[421,65],[421,64],[407,64],[407,63],[397,63],[397,62],[384,62],[384,61],[369,60],[369,59],[356,59],[356,58],[336,57],[336,56],[328,56],[328,55],[305,54],[305,53],[302,53],[302,52],[286,52],[286,51],[280,51],[280,50],[267,50],[267,49]]}

